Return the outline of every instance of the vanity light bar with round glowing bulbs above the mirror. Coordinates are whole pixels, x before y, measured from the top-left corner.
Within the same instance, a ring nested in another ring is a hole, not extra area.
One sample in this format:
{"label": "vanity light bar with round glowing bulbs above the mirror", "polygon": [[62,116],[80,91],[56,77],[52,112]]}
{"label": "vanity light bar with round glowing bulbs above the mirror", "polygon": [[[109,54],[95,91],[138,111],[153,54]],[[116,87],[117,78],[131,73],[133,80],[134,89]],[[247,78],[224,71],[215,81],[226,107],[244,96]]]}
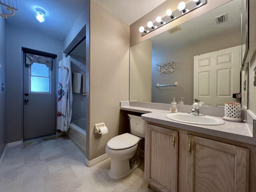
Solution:
{"label": "vanity light bar with round glowing bulbs above the mirror", "polygon": [[185,4],[185,2],[180,2],[178,5],[178,9],[173,11],[168,9],[166,11],[166,16],[160,17],[158,16],[156,18],[156,21],[148,22],[148,25],[144,28],[143,26],[140,27],[139,31],[141,32],[141,36],[144,36],[154,30],[156,30],[159,27],[162,27],[163,25],[170,23],[171,21],[183,16],[184,14],[187,14],[188,12],[191,12],[207,3],[207,0],[192,0]]}

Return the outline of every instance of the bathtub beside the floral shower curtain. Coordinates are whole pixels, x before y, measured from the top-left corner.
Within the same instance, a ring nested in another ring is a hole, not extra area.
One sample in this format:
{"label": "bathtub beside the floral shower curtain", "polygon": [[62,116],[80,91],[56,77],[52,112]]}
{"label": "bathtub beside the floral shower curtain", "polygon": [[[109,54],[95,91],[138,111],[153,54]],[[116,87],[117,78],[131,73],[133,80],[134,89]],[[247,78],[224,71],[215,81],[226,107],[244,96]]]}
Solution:
{"label": "bathtub beside the floral shower curtain", "polygon": [[68,136],[83,154],[86,155],[86,118],[71,121]]}

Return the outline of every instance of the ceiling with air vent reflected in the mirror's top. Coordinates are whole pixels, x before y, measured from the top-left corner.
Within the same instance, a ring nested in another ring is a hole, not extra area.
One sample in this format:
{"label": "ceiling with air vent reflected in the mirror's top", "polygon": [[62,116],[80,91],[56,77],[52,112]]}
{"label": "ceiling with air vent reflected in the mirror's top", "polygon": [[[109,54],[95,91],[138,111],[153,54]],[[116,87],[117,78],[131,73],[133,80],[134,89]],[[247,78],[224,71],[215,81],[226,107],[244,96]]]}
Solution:
{"label": "ceiling with air vent reflected in the mirror's top", "polygon": [[[170,50],[176,50],[231,32],[237,32],[238,36],[240,36],[241,9],[242,1],[232,0],[214,10],[180,24],[182,30],[178,32],[170,34],[168,31],[165,31],[152,37],[152,54],[157,55]],[[214,18],[225,13],[228,15],[228,21],[217,25]]]}

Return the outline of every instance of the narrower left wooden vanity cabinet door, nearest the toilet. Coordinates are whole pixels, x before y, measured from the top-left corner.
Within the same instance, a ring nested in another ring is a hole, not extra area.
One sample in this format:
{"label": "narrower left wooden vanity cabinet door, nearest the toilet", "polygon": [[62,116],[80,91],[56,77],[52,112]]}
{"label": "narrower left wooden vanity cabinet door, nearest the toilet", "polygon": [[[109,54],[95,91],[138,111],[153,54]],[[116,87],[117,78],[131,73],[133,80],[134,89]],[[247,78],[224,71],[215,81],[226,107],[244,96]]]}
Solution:
{"label": "narrower left wooden vanity cabinet door, nearest the toilet", "polygon": [[145,178],[160,191],[177,192],[178,132],[147,125]]}

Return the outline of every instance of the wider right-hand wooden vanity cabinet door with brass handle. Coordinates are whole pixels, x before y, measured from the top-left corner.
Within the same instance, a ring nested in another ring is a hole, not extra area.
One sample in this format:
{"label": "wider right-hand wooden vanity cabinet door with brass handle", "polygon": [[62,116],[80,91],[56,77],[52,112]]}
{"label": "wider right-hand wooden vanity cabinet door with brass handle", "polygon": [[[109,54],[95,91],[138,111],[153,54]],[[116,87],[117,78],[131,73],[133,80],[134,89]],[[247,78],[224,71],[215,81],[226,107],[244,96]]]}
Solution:
{"label": "wider right-hand wooden vanity cabinet door with brass handle", "polygon": [[187,136],[187,192],[247,192],[249,150]]}

